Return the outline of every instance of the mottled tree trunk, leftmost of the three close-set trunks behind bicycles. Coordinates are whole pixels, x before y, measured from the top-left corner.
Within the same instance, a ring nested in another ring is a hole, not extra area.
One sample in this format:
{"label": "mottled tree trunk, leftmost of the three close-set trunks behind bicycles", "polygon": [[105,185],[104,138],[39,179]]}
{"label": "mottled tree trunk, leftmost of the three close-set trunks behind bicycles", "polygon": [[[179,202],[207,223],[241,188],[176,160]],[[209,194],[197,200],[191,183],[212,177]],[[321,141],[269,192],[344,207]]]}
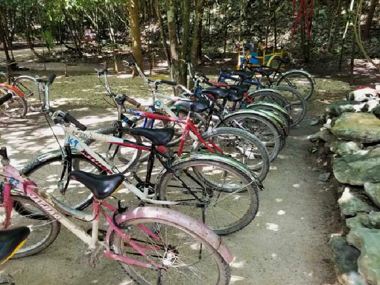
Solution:
{"label": "mottled tree trunk, leftmost of the three close-set trunks behind bicycles", "polygon": [[170,75],[173,81],[177,82],[179,75],[179,56],[178,41],[175,31],[175,0],[166,0],[167,16],[168,16],[168,32],[170,40],[170,58],[171,70]]}

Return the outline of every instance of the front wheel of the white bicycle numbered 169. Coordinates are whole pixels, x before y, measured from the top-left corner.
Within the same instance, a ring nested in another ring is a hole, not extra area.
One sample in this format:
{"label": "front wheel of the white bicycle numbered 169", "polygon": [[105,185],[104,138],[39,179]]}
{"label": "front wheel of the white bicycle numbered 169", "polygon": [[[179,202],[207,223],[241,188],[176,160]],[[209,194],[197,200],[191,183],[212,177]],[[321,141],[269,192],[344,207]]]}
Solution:
{"label": "front wheel of the white bicycle numbered 169", "polygon": [[[40,156],[40,157],[44,157],[44,155]],[[71,157],[72,157],[73,169],[91,172],[88,169],[84,169],[79,164],[78,160],[83,160],[83,161],[88,162],[90,164],[91,170],[93,170],[93,168],[95,168],[96,173],[106,174],[105,171],[101,169],[101,167],[99,167],[97,164],[95,164],[95,162],[93,162],[91,159],[85,157],[82,154],[72,153]],[[75,162],[75,160],[77,160],[77,162]],[[60,151],[57,151],[55,155],[52,155],[52,157],[49,157],[46,159],[37,157],[36,159],[29,162],[29,164],[26,165],[20,171],[20,173],[25,175],[26,177],[31,178],[31,180],[34,181],[39,187],[41,187],[41,188],[48,187],[50,194],[53,195],[57,200],[61,201],[65,206],[67,206],[71,209],[81,211],[81,210],[85,209],[86,207],[88,207],[89,205],[91,205],[91,203],[93,201],[93,195],[90,192],[90,190],[88,190],[83,185],[82,185],[82,187],[85,190],[82,190],[82,191],[76,191],[75,190],[76,195],[81,194],[81,200],[79,202],[74,201],[74,204],[72,205],[71,201],[69,202],[69,200],[68,200],[69,198],[71,198],[70,197],[72,195],[71,192],[73,192],[75,189],[72,187],[75,187],[74,185],[77,185],[77,184],[81,185],[81,184],[75,182],[74,180],[70,180],[70,183],[72,183],[72,184],[68,185],[68,187],[67,187],[68,190],[66,191],[66,193],[64,195],[62,195],[59,192],[57,182],[56,182],[56,184],[51,183],[51,180],[54,180],[54,177],[55,177],[54,174],[57,175],[57,180],[60,179],[60,175],[61,175],[62,171],[56,171],[56,173],[54,173],[54,170],[57,167],[59,167],[59,165],[62,165],[61,162],[62,162],[62,153]],[[43,172],[43,174],[41,174],[41,181],[43,181],[43,182],[37,181],[36,177],[33,178],[33,174],[35,174],[35,172],[37,170],[40,170],[41,168],[44,168],[46,166],[48,166],[48,168],[45,170],[45,172]],[[66,178],[67,177],[67,170],[66,170],[65,175],[66,175],[65,176],[65,178]],[[65,178],[63,179],[63,181],[66,181]],[[53,194],[53,192],[55,192],[55,193]],[[88,195],[86,193],[88,193]],[[83,195],[83,197],[82,197],[82,195]],[[23,210],[28,211],[27,209],[23,209]]]}

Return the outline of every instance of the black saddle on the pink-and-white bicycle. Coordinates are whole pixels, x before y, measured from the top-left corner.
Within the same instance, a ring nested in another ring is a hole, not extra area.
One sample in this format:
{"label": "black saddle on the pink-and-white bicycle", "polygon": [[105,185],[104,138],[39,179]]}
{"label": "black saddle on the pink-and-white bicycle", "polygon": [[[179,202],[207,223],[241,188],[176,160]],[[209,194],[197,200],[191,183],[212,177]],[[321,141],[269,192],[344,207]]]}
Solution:
{"label": "black saddle on the pink-and-white bicycle", "polygon": [[94,194],[94,197],[101,200],[115,192],[124,181],[122,174],[101,175],[74,170],[69,173],[69,178],[77,180],[85,185]]}

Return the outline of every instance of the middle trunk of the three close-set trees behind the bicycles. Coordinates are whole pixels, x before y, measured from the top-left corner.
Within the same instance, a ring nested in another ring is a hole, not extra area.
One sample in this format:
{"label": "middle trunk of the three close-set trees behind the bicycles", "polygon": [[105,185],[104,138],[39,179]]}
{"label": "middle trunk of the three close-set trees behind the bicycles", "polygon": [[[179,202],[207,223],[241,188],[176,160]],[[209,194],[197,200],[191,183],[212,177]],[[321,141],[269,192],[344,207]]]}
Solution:
{"label": "middle trunk of the three close-set trees behind the bicycles", "polygon": [[190,0],[182,0],[182,50],[179,84],[187,87],[187,55],[190,36]]}

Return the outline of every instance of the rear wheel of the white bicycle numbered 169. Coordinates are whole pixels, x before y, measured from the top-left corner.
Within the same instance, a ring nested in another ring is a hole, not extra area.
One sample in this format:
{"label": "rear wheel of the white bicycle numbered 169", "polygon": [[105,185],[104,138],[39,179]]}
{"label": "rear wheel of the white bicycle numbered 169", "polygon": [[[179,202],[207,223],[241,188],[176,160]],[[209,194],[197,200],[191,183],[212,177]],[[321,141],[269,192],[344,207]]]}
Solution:
{"label": "rear wheel of the white bicycle numbered 169", "polygon": [[217,234],[229,234],[255,217],[259,203],[255,183],[234,166],[234,160],[194,157],[161,171],[155,190],[160,200],[183,201],[183,205],[170,205],[171,209],[204,220]]}

